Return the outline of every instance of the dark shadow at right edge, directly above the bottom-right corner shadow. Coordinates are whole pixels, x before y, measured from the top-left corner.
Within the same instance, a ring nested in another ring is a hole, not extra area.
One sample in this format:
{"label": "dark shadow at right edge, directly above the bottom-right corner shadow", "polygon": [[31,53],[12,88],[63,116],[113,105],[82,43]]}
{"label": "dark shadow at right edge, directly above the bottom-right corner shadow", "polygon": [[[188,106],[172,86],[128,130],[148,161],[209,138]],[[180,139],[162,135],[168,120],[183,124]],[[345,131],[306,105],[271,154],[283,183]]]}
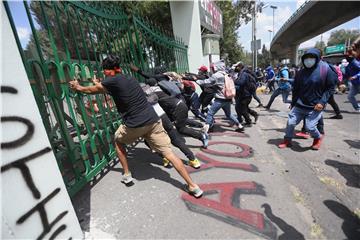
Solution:
{"label": "dark shadow at right edge, directly above the bottom-right corner shadow", "polygon": [[335,160],[326,160],[326,165],[332,166],[346,179],[346,185],[349,187],[360,188],[360,165],[347,164]]}

